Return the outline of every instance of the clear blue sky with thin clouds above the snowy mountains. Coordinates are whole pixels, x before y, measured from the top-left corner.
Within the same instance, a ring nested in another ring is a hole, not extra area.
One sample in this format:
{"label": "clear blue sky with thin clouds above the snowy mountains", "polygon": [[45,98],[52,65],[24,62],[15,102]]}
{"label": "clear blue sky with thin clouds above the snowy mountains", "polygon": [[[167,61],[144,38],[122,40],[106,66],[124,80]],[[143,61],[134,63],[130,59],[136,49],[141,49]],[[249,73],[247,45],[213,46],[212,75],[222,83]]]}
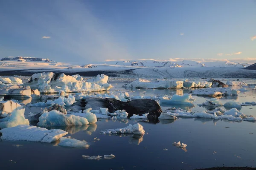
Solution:
{"label": "clear blue sky with thin clouds above the snowy mountains", "polygon": [[256,58],[256,0],[0,0],[0,58]]}

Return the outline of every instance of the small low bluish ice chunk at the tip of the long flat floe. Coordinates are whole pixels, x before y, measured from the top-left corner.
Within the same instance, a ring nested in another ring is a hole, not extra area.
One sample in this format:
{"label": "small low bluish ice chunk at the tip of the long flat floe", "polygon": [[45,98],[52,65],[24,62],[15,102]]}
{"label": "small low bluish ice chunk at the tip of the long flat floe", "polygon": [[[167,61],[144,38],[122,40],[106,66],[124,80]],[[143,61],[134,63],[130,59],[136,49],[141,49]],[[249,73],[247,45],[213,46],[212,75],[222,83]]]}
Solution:
{"label": "small low bluish ice chunk at the tip of the long flat floe", "polygon": [[70,136],[60,138],[60,143],[58,143],[58,145],[64,146],[64,147],[86,147],[86,148],[90,146],[86,141],[73,139]]}

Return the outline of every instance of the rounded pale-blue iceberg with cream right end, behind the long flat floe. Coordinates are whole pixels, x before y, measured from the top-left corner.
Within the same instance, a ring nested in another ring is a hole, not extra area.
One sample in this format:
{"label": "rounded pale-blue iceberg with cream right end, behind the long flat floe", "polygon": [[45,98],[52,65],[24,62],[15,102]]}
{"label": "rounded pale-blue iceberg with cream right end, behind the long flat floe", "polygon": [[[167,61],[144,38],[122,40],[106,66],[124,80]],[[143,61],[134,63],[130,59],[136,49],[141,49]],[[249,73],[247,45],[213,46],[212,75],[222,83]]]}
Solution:
{"label": "rounded pale-blue iceberg with cream right end, behind the long flat floe", "polygon": [[71,125],[87,125],[88,120],[84,117],[75,116],[72,114],[63,114],[60,111],[46,111],[39,117],[38,126],[71,126]]}

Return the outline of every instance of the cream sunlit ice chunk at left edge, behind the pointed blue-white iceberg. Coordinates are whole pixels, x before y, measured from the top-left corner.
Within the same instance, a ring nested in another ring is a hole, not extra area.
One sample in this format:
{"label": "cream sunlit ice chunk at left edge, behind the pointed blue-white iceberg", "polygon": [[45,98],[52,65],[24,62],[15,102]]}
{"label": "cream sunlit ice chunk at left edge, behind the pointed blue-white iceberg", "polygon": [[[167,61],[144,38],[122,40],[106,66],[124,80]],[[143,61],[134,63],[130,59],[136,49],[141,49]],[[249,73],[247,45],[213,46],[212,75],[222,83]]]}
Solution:
{"label": "cream sunlit ice chunk at left edge, behind the pointed blue-white iceberg", "polygon": [[[1,98],[3,99],[3,98]],[[9,113],[14,110],[21,109],[22,106],[12,100],[0,101],[0,117],[6,117]]]}

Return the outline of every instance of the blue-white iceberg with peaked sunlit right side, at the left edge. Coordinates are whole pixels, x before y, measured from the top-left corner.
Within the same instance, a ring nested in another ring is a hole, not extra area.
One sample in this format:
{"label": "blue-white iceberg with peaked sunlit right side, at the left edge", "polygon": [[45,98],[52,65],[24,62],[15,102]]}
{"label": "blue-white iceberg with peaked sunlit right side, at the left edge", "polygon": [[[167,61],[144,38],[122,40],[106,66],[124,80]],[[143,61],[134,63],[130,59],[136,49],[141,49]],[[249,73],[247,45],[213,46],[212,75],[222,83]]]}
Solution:
{"label": "blue-white iceberg with peaked sunlit right side, at the left edge", "polygon": [[29,120],[24,117],[24,113],[25,109],[12,111],[11,115],[0,119],[0,129],[17,125],[29,125]]}

